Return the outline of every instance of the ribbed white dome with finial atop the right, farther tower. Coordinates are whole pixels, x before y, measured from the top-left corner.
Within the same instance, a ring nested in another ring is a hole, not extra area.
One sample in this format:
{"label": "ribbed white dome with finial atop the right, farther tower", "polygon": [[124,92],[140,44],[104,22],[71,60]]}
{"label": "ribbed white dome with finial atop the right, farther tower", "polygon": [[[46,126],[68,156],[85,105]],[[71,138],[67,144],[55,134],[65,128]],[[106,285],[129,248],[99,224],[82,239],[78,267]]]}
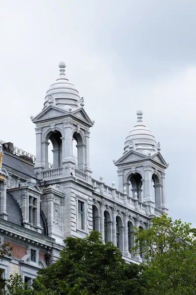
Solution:
{"label": "ribbed white dome with finial atop the right, farther tower", "polygon": [[137,124],[130,131],[125,140],[125,152],[129,150],[136,150],[138,152],[148,152],[149,154],[155,151],[155,137],[151,131],[146,128],[142,122],[142,110],[138,110],[137,113]]}

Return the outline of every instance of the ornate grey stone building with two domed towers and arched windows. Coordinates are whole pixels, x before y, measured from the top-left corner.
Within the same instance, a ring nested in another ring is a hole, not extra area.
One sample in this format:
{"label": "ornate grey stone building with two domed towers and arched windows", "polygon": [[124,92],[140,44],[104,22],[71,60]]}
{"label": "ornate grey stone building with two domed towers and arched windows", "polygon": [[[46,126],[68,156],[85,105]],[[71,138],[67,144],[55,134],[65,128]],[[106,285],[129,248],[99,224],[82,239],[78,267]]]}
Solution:
{"label": "ornate grey stone building with two domed towers and arched windows", "polygon": [[[34,118],[36,157],[1,142],[0,239],[13,246],[1,262],[4,277],[18,272],[31,283],[36,272],[55,262],[67,236],[84,237],[97,230],[102,241],[113,241],[126,261],[140,263],[130,253],[132,227],[147,228],[153,215],[167,211],[165,169],[160,143],[142,121],[129,132],[124,152],[114,161],[118,185],[92,178],[89,138],[92,121],[84,99],[65,76],[46,92],[44,107]],[[77,159],[73,156],[77,142]],[[48,162],[49,141],[53,164]],[[123,147],[122,147],[123,148]],[[7,249],[8,252],[8,249]]]}

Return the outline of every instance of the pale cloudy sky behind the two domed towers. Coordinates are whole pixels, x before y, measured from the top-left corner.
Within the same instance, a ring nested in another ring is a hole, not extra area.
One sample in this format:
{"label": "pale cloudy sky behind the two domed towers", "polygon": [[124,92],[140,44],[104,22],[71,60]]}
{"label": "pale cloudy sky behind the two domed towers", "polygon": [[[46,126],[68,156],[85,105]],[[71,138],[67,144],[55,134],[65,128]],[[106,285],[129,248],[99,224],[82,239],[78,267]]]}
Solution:
{"label": "pale cloudy sky behind the two domed towers", "polygon": [[136,110],[161,143],[172,218],[196,226],[196,1],[0,0],[0,139],[35,154],[58,63],[85,99],[93,177],[117,183]]}

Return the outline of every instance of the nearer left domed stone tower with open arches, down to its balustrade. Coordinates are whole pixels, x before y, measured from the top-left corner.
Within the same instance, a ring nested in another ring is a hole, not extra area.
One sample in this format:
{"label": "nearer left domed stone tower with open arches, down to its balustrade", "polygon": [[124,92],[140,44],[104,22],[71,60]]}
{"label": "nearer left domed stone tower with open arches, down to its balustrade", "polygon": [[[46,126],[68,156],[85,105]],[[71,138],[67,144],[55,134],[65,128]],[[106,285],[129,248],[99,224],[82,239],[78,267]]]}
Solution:
{"label": "nearer left domed stone tower with open arches, down to its balustrade", "polygon": [[[47,90],[42,111],[32,118],[36,133],[36,164],[38,179],[47,180],[75,176],[75,169],[91,174],[89,163],[89,128],[93,122],[84,110],[84,99],[65,76],[65,62],[59,63],[60,75]],[[73,155],[77,142],[77,163]],[[53,163],[48,163],[48,145],[53,146]],[[51,169],[52,168],[52,169]],[[48,174],[50,169],[50,174]],[[55,171],[54,171],[55,170]]]}

